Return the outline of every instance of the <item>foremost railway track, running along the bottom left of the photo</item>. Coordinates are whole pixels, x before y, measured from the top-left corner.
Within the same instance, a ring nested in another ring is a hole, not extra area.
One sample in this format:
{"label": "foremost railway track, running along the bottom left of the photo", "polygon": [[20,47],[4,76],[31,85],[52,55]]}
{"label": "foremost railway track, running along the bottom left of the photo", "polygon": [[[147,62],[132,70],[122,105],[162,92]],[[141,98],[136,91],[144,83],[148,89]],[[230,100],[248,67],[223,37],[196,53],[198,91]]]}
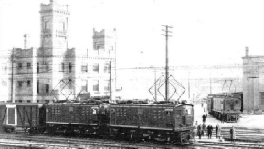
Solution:
{"label": "foremost railway track, running along the bottom left of the photo", "polygon": [[[95,139],[95,138],[69,138],[59,136],[26,136],[16,135],[3,135],[0,134],[0,138],[5,138],[3,142],[26,144],[33,147],[54,148],[55,144],[58,144],[55,148],[94,148],[94,147],[106,147],[106,148],[173,148],[175,146],[153,144],[148,142],[131,143],[126,141],[114,141],[109,139]],[[0,141],[1,144],[1,141]],[[41,145],[40,145],[41,144]],[[60,146],[61,145],[61,146]],[[23,145],[22,145],[23,146]]]}

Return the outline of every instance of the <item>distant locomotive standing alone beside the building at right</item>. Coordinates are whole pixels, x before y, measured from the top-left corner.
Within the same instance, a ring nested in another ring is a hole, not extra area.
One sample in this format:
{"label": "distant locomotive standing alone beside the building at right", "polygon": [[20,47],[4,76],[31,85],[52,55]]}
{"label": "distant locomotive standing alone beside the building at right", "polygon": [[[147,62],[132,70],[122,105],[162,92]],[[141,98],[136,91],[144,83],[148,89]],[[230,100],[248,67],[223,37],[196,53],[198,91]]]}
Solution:
{"label": "distant locomotive standing alone beside the building at right", "polygon": [[207,98],[209,114],[226,122],[237,122],[242,111],[242,93],[211,94]]}

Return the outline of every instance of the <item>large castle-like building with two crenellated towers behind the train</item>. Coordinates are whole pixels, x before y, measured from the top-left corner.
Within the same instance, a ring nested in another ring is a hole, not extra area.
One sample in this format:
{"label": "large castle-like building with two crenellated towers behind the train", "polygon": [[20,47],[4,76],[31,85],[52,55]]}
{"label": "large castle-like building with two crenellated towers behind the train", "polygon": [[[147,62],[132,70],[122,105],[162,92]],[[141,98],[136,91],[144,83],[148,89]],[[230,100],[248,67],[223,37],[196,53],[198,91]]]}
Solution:
{"label": "large castle-like building with two crenellated towers behind the train", "polygon": [[9,87],[9,101],[48,103],[110,97],[110,88],[115,91],[115,29],[94,29],[91,50],[69,49],[69,5],[50,0],[40,7],[40,47],[30,48],[29,35],[24,35],[25,47],[13,49],[9,63],[9,73],[13,74],[9,75],[9,83],[13,82],[13,89]]}

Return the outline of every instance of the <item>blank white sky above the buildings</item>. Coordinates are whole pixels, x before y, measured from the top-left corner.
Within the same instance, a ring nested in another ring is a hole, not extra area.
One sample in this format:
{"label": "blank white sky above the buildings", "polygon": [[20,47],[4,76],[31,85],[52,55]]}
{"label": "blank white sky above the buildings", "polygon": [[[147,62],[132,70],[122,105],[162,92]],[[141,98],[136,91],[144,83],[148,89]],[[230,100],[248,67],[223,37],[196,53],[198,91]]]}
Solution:
{"label": "blank white sky above the buildings", "polygon": [[[245,46],[249,47],[249,55],[264,55],[263,0],[58,2],[68,4],[71,12],[69,47],[91,49],[93,28],[116,28],[118,68],[163,67],[165,38],[162,25],[173,27],[168,45],[171,67],[241,65]],[[31,35],[31,45],[39,47],[41,3],[48,4],[49,0],[0,0],[1,51],[23,47],[25,33]],[[205,74],[200,70],[195,73]]]}

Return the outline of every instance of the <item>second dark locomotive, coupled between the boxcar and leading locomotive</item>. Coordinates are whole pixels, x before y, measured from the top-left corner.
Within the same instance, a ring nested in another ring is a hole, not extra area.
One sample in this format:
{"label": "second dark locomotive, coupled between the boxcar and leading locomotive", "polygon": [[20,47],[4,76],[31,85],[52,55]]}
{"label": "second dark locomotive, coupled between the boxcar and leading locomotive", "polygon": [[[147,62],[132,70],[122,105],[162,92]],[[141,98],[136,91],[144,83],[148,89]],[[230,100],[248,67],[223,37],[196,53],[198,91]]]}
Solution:
{"label": "second dark locomotive, coupled between the boxcar and leading locomotive", "polygon": [[48,134],[104,135],[108,124],[109,104],[47,104]]}

